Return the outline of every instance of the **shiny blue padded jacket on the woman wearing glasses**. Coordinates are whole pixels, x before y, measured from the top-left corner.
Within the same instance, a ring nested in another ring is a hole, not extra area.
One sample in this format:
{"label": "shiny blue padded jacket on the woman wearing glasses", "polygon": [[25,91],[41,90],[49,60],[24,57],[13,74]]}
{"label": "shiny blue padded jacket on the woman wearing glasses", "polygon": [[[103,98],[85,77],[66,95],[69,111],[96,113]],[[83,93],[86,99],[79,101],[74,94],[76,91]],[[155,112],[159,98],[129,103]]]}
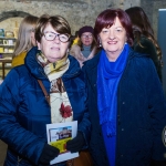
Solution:
{"label": "shiny blue padded jacket on the woman wearing glasses", "polygon": [[[33,48],[25,58],[25,64],[13,68],[0,85],[0,138],[9,146],[6,165],[37,165],[46,143],[45,124],[51,123],[50,106],[37,81],[40,79],[48,93],[50,81],[35,60]],[[79,123],[85,139],[89,139],[90,122],[85,107],[86,93],[79,62],[69,55],[70,68],[62,80],[68,92],[73,118]]]}

